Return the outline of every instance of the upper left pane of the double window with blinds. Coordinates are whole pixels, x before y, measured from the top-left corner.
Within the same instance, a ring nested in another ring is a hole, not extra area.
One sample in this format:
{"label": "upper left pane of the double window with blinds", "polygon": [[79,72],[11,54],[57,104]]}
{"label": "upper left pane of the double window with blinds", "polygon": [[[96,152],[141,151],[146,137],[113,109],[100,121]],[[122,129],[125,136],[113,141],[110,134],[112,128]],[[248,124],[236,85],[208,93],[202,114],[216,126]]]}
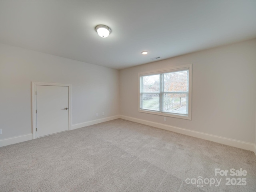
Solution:
{"label": "upper left pane of the double window with blinds", "polygon": [[160,92],[160,75],[143,76],[142,92]]}

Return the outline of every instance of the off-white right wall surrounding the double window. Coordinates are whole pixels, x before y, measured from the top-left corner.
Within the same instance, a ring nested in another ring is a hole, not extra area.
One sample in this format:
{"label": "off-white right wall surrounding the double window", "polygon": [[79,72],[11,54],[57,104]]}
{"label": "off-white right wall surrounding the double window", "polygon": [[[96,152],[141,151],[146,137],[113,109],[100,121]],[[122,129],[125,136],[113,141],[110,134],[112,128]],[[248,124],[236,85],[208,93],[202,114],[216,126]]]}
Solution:
{"label": "off-white right wall surrounding the double window", "polygon": [[[190,63],[192,120],[138,112],[138,72]],[[256,142],[256,39],[120,70],[120,85],[123,116]]]}

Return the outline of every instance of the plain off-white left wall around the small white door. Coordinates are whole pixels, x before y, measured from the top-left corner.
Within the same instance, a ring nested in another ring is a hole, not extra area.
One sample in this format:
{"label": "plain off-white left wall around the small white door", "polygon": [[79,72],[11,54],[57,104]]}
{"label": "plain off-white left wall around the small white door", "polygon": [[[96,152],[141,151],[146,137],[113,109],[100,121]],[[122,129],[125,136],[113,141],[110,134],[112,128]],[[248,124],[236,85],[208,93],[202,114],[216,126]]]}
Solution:
{"label": "plain off-white left wall around the small white door", "polygon": [[118,70],[0,44],[0,140],[32,133],[32,81],[72,84],[72,124],[119,114]]}

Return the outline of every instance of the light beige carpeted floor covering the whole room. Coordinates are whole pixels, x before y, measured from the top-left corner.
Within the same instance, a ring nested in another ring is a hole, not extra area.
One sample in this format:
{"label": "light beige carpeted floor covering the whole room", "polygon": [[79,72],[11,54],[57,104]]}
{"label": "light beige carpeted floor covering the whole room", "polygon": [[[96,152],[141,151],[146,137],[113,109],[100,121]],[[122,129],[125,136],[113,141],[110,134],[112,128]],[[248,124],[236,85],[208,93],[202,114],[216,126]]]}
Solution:
{"label": "light beige carpeted floor covering the whole room", "polygon": [[117,119],[0,148],[0,191],[256,192],[256,156]]}

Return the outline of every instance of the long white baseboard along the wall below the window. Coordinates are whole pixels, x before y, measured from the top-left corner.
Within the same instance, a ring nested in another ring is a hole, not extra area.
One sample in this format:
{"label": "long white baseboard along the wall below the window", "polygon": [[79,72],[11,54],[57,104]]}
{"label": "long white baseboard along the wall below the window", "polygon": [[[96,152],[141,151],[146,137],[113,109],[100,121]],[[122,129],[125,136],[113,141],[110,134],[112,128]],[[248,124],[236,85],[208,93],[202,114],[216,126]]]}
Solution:
{"label": "long white baseboard along the wall below the window", "polygon": [[156,128],[160,128],[160,129],[164,129],[164,130],[200,138],[200,139],[217,142],[220,144],[225,144],[228,146],[233,146],[233,147],[237,147],[237,148],[241,148],[241,149],[245,149],[245,150],[254,151],[254,153],[256,154],[256,145],[254,143],[244,142],[244,141],[240,141],[240,140],[230,139],[230,138],[226,138],[226,137],[216,136],[216,135],[212,135],[212,134],[188,130],[188,129],[184,129],[184,128],[174,127],[174,126],[170,126],[170,125],[166,125],[166,124],[160,124],[160,123],[137,119],[137,118],[128,117],[128,116],[120,115],[120,118],[129,120],[129,121],[133,121],[133,122],[137,122],[137,123],[141,123],[141,124],[145,124],[145,125],[149,125],[149,126],[153,126]]}

